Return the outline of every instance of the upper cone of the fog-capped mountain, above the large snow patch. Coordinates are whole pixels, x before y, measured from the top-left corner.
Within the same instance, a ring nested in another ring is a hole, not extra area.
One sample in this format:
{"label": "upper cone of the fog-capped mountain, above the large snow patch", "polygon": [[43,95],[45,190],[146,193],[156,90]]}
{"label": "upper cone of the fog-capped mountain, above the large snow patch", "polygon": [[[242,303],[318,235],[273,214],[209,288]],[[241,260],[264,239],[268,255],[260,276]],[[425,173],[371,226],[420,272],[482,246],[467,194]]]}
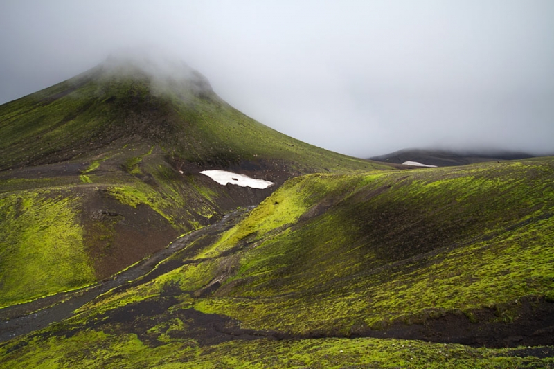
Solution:
{"label": "upper cone of the fog-capped mountain, above the large snow patch", "polygon": [[226,104],[192,70],[175,78],[133,64],[100,64],[0,106],[3,170],[129,143],[158,145],[179,166],[278,160],[298,173],[388,168],[280,134]]}

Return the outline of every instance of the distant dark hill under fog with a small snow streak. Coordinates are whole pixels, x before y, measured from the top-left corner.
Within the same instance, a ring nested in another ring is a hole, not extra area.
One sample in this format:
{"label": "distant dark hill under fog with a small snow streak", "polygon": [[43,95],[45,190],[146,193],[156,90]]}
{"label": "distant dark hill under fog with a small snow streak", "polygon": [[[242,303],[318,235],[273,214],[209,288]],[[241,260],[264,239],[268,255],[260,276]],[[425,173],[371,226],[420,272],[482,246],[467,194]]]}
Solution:
{"label": "distant dark hill under fog with a small snow streak", "polygon": [[373,156],[370,160],[384,163],[402,164],[406,161],[415,161],[425,165],[437,167],[449,167],[454,165],[467,165],[483,163],[485,161],[508,161],[531,158],[533,155],[525,152],[508,152],[499,150],[490,151],[449,151],[449,150],[425,150],[405,149],[391,154]]}

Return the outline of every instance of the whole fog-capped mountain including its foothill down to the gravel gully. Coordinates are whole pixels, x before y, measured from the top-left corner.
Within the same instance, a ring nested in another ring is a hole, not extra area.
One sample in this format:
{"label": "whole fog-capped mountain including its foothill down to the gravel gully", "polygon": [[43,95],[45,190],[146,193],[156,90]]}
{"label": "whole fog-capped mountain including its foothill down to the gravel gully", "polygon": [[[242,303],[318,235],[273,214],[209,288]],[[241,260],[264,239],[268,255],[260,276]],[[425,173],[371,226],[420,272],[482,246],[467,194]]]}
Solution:
{"label": "whole fog-capped mountain including its foothill down to the gravel gully", "polygon": [[290,177],[387,168],[252,120],[185,64],[107,60],[0,106],[0,307],[112,276]]}

